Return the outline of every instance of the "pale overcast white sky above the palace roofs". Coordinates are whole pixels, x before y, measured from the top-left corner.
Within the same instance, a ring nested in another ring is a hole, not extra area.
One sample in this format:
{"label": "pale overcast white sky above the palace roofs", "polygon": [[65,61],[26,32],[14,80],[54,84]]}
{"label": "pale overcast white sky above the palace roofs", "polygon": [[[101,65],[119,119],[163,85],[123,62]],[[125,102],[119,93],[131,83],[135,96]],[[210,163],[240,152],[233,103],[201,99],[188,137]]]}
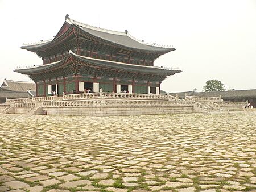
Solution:
{"label": "pale overcast white sky above the palace roofs", "polygon": [[139,40],[173,45],[156,66],[183,72],[161,84],[167,92],[201,91],[217,79],[226,89],[256,89],[256,1],[7,1],[0,0],[0,81],[31,81],[13,72],[42,64],[23,43],[51,39],[65,15],[92,26],[125,31]]}

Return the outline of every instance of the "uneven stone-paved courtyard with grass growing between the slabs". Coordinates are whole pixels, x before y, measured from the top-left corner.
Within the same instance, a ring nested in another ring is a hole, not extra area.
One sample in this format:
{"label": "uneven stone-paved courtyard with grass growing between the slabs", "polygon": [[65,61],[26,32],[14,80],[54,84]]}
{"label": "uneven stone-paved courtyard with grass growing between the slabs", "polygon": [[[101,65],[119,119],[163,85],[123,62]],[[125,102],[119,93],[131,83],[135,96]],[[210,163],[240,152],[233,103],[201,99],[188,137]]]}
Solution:
{"label": "uneven stone-paved courtyard with grass growing between the slabs", "polygon": [[0,191],[256,191],[256,112],[0,115]]}

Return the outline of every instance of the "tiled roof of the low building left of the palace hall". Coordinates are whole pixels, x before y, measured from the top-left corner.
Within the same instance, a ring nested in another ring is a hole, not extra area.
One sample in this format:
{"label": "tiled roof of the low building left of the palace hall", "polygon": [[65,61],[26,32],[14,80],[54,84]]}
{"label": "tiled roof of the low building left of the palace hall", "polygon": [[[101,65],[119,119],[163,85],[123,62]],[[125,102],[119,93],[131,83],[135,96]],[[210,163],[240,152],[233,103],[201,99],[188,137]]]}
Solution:
{"label": "tiled roof of the low building left of the palace hall", "polygon": [[27,90],[36,90],[36,84],[34,82],[13,81],[13,80],[5,79],[3,80],[0,90],[27,93]]}

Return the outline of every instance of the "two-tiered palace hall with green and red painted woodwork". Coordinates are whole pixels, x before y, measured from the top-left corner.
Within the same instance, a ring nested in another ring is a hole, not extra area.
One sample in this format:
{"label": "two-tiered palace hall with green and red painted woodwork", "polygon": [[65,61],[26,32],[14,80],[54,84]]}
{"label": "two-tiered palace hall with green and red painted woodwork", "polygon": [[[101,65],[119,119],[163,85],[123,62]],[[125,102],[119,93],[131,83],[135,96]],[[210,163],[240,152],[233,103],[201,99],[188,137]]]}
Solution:
{"label": "two-tiered palace hall with green and red painted woodwork", "polygon": [[174,48],[147,44],[127,30],[117,32],[77,22],[66,15],[57,35],[21,47],[36,53],[43,64],[18,68],[36,83],[36,96],[98,92],[159,94],[160,84],[179,69],[154,66]]}

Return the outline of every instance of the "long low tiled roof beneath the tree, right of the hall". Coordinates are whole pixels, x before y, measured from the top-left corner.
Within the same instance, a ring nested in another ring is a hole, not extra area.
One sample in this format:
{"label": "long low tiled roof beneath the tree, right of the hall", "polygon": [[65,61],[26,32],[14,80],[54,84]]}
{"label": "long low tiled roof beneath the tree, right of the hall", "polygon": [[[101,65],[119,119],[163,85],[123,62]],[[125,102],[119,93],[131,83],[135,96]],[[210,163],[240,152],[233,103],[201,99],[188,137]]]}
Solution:
{"label": "long low tiled roof beneath the tree, right of the hall", "polygon": [[256,98],[256,89],[249,90],[234,90],[234,91],[211,91],[211,92],[195,92],[195,91],[187,91],[180,93],[170,93],[170,95],[176,96],[179,95],[180,98],[184,98],[184,95],[187,96],[199,96],[199,97],[220,97],[224,99],[232,99],[232,98]]}

